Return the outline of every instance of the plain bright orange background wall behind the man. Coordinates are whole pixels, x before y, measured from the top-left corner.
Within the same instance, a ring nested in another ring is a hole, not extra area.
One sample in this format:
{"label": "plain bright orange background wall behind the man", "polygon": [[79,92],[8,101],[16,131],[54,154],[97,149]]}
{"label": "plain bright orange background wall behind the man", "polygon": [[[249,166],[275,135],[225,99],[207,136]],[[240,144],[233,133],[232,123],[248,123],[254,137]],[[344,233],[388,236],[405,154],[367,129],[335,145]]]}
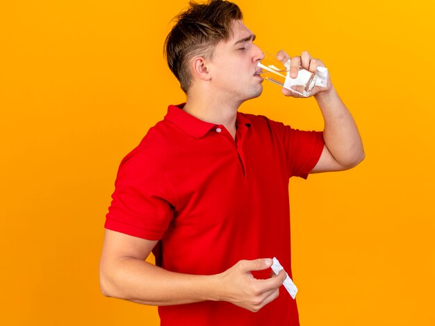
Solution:
{"label": "plain bright orange background wall behind the man", "polygon": [[[120,160],[184,101],[162,47],[186,3],[2,1],[3,325],[158,325],[98,266]],[[238,4],[263,49],[325,62],[366,149],[290,182],[302,325],[435,325],[434,2]],[[241,111],[322,129],[314,98],[263,85]]]}

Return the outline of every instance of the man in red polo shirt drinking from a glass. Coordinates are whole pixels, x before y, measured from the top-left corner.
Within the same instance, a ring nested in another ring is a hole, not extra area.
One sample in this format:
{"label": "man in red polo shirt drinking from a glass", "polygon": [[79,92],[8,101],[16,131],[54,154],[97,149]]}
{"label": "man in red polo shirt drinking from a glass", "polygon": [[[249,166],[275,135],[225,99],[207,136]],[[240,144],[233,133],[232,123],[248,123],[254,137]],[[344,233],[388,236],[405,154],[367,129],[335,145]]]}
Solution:
{"label": "man in red polo shirt drinking from a glass", "polygon": [[[262,92],[263,52],[233,3],[191,3],[166,40],[187,94],[120,164],[106,219],[104,295],[159,306],[161,325],[299,325],[290,277],[288,179],[363,160],[331,80],[315,87],[324,132],[238,112]],[[279,56],[287,60],[281,51]],[[309,53],[291,60],[315,71]],[[283,89],[284,95],[297,94]],[[145,261],[151,250],[156,266]]]}

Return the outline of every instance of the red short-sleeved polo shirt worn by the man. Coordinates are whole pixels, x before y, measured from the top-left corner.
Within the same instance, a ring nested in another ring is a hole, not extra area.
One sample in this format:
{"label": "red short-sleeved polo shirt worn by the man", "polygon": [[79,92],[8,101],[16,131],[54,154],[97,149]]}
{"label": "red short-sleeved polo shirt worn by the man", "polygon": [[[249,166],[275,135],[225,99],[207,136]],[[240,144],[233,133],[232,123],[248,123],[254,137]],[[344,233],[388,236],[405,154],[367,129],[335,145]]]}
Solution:
{"label": "red short-sleeved polo shirt worn by the man", "polygon": [[[240,259],[277,257],[292,277],[288,179],[313,169],[322,132],[238,112],[234,140],[182,107],[170,105],[122,160],[105,228],[160,240],[156,264],[168,271],[213,275]],[[299,325],[284,287],[257,313],[211,301],[158,311],[161,325]]]}

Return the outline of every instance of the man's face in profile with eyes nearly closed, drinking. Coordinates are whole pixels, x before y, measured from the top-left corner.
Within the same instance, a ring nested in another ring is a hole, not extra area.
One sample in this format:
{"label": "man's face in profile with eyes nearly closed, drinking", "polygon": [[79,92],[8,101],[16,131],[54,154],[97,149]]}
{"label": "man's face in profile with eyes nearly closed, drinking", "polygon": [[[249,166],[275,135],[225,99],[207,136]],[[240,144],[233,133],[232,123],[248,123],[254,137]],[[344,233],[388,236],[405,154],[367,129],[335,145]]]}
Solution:
{"label": "man's face in profile with eyes nearly closed, drinking", "polygon": [[254,40],[255,35],[237,20],[230,39],[215,46],[209,62],[215,92],[240,103],[261,94],[263,78],[258,75],[261,69],[257,64],[264,54]]}

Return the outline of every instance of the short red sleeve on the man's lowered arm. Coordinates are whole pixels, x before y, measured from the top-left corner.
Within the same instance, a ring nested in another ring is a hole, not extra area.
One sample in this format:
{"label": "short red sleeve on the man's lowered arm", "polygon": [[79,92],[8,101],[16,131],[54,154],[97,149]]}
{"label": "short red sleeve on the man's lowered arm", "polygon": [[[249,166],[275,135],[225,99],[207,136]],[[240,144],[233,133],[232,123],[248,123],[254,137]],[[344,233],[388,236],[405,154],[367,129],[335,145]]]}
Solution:
{"label": "short red sleeve on the man's lowered arm", "polygon": [[122,160],[106,223],[108,230],[159,240],[174,216],[175,198],[161,168],[146,153]]}

